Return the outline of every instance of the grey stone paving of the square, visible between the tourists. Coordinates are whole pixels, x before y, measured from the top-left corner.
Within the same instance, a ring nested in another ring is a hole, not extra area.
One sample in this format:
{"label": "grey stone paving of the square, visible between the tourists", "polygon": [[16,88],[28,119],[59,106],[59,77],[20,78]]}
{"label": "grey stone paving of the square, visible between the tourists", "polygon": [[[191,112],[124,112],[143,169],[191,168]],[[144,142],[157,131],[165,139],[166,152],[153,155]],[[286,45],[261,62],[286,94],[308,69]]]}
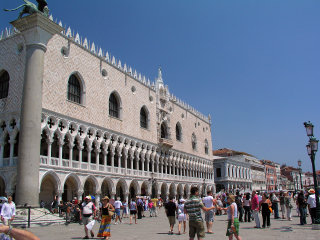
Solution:
{"label": "grey stone paving of the square, visible between the tourists", "polygon": [[[189,239],[188,229],[187,234],[183,235],[168,235],[169,224],[165,217],[164,210],[160,211],[158,217],[147,217],[138,220],[138,224],[129,225],[129,219],[124,219],[123,224],[111,226],[112,240],[136,240],[136,239]],[[261,216],[260,216],[261,217]],[[205,239],[223,240],[227,239],[225,236],[227,216],[216,216],[214,222],[214,234],[207,234]],[[262,219],[261,219],[262,221]],[[310,223],[310,218],[307,218]],[[187,223],[188,225],[188,223]],[[255,229],[253,228],[254,222],[240,223],[240,236],[243,240],[271,240],[271,239],[290,239],[290,240],[319,240],[320,231],[312,230],[311,225],[299,225],[299,217],[296,211],[293,211],[293,221],[275,220],[271,217],[271,228]],[[98,232],[99,224],[94,226],[95,234]],[[174,232],[178,232],[178,226],[174,227]],[[48,227],[34,227],[30,229],[41,240],[66,240],[66,239],[82,239],[84,237],[83,226],[79,224],[55,225]],[[98,238],[95,238],[98,239]],[[235,238],[234,238],[235,239]]]}

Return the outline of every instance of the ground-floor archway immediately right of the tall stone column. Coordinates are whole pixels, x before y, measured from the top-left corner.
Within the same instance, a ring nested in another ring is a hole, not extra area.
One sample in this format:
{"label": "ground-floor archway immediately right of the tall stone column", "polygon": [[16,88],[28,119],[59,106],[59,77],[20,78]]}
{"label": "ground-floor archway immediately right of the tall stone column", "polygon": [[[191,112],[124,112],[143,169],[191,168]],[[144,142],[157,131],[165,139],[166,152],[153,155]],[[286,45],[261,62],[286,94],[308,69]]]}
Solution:
{"label": "ground-floor archway immediately right of the tall stone column", "polygon": [[54,200],[57,192],[58,183],[55,177],[52,174],[45,175],[40,186],[39,200],[49,204]]}

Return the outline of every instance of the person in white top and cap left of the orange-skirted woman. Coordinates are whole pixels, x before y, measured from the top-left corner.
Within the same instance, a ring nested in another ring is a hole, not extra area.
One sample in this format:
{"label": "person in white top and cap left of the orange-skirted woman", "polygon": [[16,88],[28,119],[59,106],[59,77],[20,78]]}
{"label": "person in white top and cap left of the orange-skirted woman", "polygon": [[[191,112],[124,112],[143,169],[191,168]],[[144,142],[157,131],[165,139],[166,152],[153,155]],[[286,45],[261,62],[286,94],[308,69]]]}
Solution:
{"label": "person in white top and cap left of the orange-skirted woman", "polygon": [[[96,207],[91,201],[91,196],[86,196],[80,208],[80,220],[82,219],[84,231],[86,233],[86,236],[83,239],[89,239],[87,224],[92,221],[92,215],[94,218],[96,218]],[[90,234],[91,237],[94,237],[92,230],[90,231]]]}

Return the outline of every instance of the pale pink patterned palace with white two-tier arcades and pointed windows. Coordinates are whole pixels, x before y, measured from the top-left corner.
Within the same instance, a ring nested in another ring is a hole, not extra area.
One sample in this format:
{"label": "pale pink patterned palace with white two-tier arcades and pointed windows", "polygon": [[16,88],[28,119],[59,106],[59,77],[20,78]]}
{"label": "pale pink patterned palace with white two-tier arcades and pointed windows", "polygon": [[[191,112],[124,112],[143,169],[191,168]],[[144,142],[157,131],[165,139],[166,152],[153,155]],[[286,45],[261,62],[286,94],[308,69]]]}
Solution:
{"label": "pale pink patterned palace with white two-tier arcades and pointed windows", "polygon": [[[52,20],[52,18],[51,18]],[[46,46],[39,199],[188,197],[215,190],[210,116],[70,28]],[[0,194],[14,195],[26,43],[0,36]],[[30,139],[32,141],[32,139]]]}

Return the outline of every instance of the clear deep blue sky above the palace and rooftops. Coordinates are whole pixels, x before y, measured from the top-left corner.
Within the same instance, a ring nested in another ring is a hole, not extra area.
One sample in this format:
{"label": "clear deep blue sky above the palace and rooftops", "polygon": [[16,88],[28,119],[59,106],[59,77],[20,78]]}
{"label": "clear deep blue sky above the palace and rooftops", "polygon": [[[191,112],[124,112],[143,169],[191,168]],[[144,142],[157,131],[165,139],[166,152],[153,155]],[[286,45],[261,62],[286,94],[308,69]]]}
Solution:
{"label": "clear deep blue sky above the palace and rooftops", "polygon": [[[34,1],[35,2],[35,1]],[[2,0],[14,8],[20,0]],[[213,148],[310,171],[320,138],[320,1],[48,0],[64,26],[212,116]],[[18,12],[1,12],[0,29]],[[320,154],[320,153],[319,153]],[[320,157],[316,157],[320,169]]]}

